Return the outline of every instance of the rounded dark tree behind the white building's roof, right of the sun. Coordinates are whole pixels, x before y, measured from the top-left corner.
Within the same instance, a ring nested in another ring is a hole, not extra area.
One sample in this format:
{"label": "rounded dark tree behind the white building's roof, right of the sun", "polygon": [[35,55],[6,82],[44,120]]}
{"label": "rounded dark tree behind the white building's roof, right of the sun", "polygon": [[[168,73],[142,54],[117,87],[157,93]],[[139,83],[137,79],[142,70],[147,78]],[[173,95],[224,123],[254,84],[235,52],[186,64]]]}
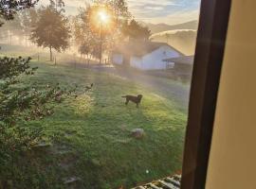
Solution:
{"label": "rounded dark tree behind the white building's roof, right of the sun", "polygon": [[147,26],[137,23],[134,19],[123,24],[122,33],[129,39],[140,41],[148,41],[151,36],[151,30]]}

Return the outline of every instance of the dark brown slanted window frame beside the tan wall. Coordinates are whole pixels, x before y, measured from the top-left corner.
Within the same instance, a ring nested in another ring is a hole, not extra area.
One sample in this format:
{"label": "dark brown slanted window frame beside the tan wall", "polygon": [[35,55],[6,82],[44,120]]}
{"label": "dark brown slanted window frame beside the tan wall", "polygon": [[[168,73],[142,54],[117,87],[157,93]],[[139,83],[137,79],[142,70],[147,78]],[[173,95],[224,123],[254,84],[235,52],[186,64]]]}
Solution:
{"label": "dark brown slanted window frame beside the tan wall", "polygon": [[202,0],[192,74],[182,189],[204,189],[231,0]]}

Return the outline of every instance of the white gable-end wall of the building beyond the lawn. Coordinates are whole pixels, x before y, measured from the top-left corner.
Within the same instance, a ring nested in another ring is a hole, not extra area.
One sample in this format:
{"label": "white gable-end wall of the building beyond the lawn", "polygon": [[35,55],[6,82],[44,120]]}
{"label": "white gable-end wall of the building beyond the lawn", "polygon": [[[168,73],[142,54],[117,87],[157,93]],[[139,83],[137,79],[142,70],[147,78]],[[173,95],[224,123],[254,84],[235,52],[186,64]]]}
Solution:
{"label": "white gable-end wall of the building beyond the lawn", "polygon": [[142,64],[141,69],[142,70],[163,70],[167,68],[166,61],[163,61],[165,59],[171,59],[179,57],[180,54],[176,52],[173,48],[170,46],[162,46],[155,51],[153,51],[151,54],[145,55],[142,57]]}

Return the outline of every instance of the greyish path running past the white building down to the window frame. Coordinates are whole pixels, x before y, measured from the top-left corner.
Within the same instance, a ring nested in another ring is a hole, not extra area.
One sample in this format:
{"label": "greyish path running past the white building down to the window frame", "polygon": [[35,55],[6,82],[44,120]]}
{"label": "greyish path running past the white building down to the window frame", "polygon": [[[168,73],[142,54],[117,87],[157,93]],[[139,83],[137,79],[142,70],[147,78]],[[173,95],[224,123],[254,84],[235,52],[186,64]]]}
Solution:
{"label": "greyish path running past the white building down to the window frame", "polygon": [[94,66],[90,69],[113,74],[136,82],[143,87],[149,88],[155,94],[162,95],[166,98],[172,98],[177,105],[177,108],[187,111],[189,104],[190,86],[179,81],[174,81],[169,78],[149,76],[134,70],[117,69],[111,66]]}

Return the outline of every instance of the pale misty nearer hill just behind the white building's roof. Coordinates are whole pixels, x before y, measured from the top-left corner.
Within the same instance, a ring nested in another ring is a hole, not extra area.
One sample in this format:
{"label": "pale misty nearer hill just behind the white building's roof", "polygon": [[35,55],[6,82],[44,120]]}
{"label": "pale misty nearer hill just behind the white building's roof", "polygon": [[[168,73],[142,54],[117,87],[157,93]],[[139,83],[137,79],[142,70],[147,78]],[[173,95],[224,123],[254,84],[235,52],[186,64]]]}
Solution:
{"label": "pale misty nearer hill just behind the white building's roof", "polygon": [[151,36],[153,42],[169,43],[185,55],[193,55],[196,42],[196,30],[175,29],[162,31]]}

